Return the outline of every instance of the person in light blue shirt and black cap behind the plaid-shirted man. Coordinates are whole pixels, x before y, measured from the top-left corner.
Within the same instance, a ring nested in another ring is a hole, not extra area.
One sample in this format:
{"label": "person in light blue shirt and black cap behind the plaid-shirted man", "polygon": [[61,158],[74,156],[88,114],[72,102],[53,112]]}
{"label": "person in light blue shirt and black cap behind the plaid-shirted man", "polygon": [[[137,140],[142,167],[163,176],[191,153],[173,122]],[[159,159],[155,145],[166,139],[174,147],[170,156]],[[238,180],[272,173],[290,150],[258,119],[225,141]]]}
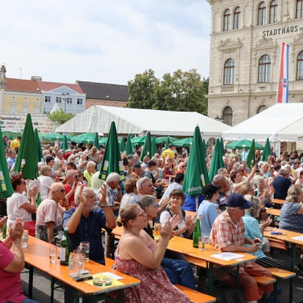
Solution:
{"label": "person in light blue shirt and black cap behind the plaid-shirted man", "polygon": [[200,219],[201,232],[205,237],[210,236],[213,224],[218,217],[218,211],[214,205],[214,202],[219,197],[220,189],[221,185],[214,185],[212,183],[203,187],[203,195],[205,196],[205,200],[202,201],[198,208],[197,218]]}

